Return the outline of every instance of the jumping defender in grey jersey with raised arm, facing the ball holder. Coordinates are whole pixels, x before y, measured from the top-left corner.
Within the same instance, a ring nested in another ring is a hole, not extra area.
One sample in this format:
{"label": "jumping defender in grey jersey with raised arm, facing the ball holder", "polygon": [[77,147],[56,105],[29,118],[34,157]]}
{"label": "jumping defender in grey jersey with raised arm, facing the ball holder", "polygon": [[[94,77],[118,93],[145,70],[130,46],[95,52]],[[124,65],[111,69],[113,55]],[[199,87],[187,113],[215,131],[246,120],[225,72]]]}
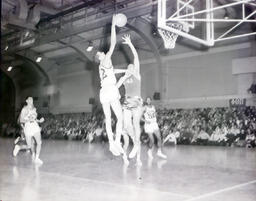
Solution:
{"label": "jumping defender in grey jersey with raised arm, facing the ball holder", "polygon": [[[124,132],[127,133],[133,141],[133,149],[129,158],[134,158],[137,154],[137,165],[142,165],[140,160],[140,119],[142,116],[143,100],[141,98],[141,76],[140,62],[138,53],[131,42],[130,35],[123,37],[123,44],[127,44],[134,56],[133,64],[129,64],[125,75],[117,83],[119,88],[122,84],[125,87],[125,101],[123,105]],[[124,150],[127,149],[129,139],[124,135]],[[125,156],[125,155],[124,155]],[[125,158],[123,157],[124,161]]]}

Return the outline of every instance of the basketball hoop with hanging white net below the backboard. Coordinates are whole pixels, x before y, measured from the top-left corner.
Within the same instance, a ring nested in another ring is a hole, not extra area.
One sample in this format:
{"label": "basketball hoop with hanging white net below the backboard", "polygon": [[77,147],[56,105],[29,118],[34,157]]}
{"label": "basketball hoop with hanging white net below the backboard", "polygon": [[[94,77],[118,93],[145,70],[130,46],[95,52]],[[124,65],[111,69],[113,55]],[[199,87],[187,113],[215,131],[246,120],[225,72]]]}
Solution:
{"label": "basketball hoop with hanging white net below the backboard", "polygon": [[[181,31],[181,30],[183,30],[185,32],[189,31],[189,27],[183,23],[169,22],[167,25],[174,29],[177,29],[179,31]],[[166,49],[173,49],[175,47],[176,40],[179,35],[171,32],[171,31],[168,31],[166,29],[160,28],[160,27],[158,27],[158,32],[161,35],[161,37],[163,38],[164,47]]]}

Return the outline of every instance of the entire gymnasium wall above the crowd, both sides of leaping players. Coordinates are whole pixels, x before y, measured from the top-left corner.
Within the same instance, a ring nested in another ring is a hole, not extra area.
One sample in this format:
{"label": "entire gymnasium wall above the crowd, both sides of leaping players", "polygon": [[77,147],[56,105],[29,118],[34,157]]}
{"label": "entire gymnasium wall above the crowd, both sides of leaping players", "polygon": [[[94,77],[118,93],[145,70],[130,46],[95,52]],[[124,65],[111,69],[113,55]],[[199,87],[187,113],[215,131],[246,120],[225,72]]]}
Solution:
{"label": "entire gymnasium wall above the crowd, both sides of leaping players", "polygon": [[[161,71],[154,57],[141,60],[142,97],[160,92],[161,100],[155,104],[173,108],[228,106],[228,100],[238,95],[239,79],[232,73],[232,61],[250,54],[250,43],[191,50],[162,57]],[[115,68],[126,67],[129,61],[115,53]],[[91,111],[89,99],[98,99],[98,74],[83,62],[60,66],[55,85],[53,113]]]}

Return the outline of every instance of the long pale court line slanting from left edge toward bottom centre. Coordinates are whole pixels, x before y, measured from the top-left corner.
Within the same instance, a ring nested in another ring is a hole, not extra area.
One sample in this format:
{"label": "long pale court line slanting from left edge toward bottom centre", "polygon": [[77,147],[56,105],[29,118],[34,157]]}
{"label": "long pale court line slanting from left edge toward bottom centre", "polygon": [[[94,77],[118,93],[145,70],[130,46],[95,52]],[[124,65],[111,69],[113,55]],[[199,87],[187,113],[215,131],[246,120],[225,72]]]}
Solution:
{"label": "long pale court line slanting from left edge toward bottom centre", "polygon": [[[28,168],[18,167],[18,169],[23,169],[23,170],[27,170],[27,171],[28,170],[33,170],[33,168],[29,168],[29,167]],[[7,170],[5,170],[5,171],[7,171]],[[173,192],[170,192],[170,191],[160,191],[160,190],[153,189],[153,188],[141,188],[141,187],[132,186],[132,185],[125,185],[125,184],[120,184],[120,183],[112,183],[112,182],[94,180],[94,179],[89,179],[89,178],[81,178],[81,177],[76,177],[76,176],[63,175],[63,174],[60,174],[60,173],[48,172],[48,171],[39,171],[39,174],[40,173],[50,174],[50,175],[54,175],[54,176],[57,176],[57,177],[66,177],[66,178],[69,178],[69,179],[78,179],[78,180],[82,180],[82,181],[100,183],[100,184],[109,185],[109,186],[117,186],[117,187],[122,187],[122,188],[130,188],[130,189],[135,189],[135,190],[139,190],[139,191],[151,191],[151,192],[155,192],[155,193],[169,194],[169,195],[176,196],[176,197],[183,197],[183,198],[191,198],[192,197],[190,195],[173,193]]]}

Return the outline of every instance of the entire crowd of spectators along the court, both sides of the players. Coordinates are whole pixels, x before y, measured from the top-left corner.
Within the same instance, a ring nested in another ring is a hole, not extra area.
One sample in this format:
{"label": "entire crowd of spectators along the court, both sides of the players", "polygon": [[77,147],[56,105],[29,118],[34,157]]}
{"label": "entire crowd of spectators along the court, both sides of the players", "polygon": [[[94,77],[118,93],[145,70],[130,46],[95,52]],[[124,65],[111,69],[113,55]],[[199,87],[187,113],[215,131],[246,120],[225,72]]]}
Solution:
{"label": "entire crowd of spectators along the court, both sides of the players", "polygon": [[[43,138],[82,140],[89,143],[107,141],[101,111],[93,114],[47,114],[43,117]],[[241,147],[255,147],[256,144],[256,107],[158,109],[157,119],[164,144]],[[114,123],[113,120],[113,126]],[[9,129],[8,126],[5,128],[6,135],[16,131],[17,126],[14,125],[9,126]],[[141,140],[142,143],[148,142],[144,132]]]}

